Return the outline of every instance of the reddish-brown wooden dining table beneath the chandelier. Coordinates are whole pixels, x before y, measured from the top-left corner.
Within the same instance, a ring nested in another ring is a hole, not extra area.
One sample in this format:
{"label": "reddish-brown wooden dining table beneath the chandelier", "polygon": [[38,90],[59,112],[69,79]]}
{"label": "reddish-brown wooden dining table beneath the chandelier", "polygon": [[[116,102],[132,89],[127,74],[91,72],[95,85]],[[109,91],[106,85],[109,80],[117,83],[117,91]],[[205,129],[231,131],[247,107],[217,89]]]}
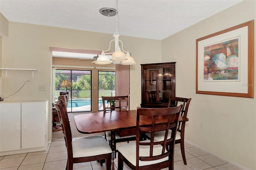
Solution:
{"label": "reddish-brown wooden dining table beneath the chandelier", "polygon": [[[156,119],[156,123],[164,123],[165,116]],[[136,134],[136,110],[85,113],[74,116],[78,132],[93,134],[111,131],[110,147],[112,149],[112,170],[114,170],[114,155],[116,146],[114,144],[115,133],[120,137]],[[151,117],[140,117],[141,125],[150,125]],[[188,121],[188,118],[179,116],[179,122]]]}

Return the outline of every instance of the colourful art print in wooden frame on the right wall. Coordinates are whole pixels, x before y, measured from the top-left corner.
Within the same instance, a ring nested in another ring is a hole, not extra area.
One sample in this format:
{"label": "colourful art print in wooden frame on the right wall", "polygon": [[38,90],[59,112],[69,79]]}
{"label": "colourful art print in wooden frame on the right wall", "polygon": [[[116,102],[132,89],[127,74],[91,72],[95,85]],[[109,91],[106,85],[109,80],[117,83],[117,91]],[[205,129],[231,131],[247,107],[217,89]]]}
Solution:
{"label": "colourful art print in wooden frame on the right wall", "polygon": [[254,98],[254,20],[196,40],[196,93]]}

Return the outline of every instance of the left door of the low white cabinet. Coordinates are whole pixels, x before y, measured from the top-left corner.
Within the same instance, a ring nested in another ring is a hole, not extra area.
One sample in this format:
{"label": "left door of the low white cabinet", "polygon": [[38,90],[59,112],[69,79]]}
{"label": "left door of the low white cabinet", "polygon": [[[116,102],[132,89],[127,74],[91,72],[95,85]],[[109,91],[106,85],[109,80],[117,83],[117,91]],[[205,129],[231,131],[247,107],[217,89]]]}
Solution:
{"label": "left door of the low white cabinet", "polygon": [[20,103],[0,103],[0,152],[20,149]]}

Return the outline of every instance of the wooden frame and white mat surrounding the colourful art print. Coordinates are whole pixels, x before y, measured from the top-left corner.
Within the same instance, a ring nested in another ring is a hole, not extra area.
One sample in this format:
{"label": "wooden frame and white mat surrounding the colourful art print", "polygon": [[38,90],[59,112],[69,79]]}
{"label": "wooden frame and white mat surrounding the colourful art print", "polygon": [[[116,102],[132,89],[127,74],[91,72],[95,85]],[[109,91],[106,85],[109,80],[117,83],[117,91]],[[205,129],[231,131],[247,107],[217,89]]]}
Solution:
{"label": "wooden frame and white mat surrounding the colourful art print", "polygon": [[[247,30],[246,32],[244,30]],[[239,34],[239,35],[238,35]],[[200,50],[203,43],[218,42],[241,36],[243,38],[240,44],[240,56],[248,56],[240,58],[240,82],[202,82],[202,51]],[[246,44],[244,39],[246,39]],[[248,68],[248,69],[243,69]],[[236,84],[237,83],[237,84]],[[239,84],[238,84],[239,83]],[[235,86],[236,88],[233,88]],[[254,98],[254,20],[239,24],[237,26],[204,36],[196,40],[196,93],[208,95],[222,95],[232,97]]]}

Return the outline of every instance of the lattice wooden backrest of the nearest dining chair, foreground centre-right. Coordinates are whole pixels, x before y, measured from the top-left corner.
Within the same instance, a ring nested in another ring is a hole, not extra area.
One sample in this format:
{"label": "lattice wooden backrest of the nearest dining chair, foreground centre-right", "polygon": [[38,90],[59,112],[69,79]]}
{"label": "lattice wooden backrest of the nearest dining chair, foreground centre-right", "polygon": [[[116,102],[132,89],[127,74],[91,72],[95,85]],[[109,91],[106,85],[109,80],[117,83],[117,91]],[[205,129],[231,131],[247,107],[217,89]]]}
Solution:
{"label": "lattice wooden backrest of the nearest dining chair, foreground centre-right", "polygon": [[[174,144],[175,136],[178,124],[178,118],[180,115],[182,105],[178,107],[169,107],[169,108],[140,108],[137,107],[137,117],[136,117],[136,165],[139,164],[139,160],[158,160],[169,156],[169,160],[174,158]],[[143,125],[140,123],[140,119],[143,117],[151,117],[150,125]],[[160,122],[159,122],[160,121]],[[171,130],[171,137],[167,139],[168,131]],[[165,131],[165,136],[162,141],[155,142],[154,134],[158,131]],[[140,135],[151,132],[150,141],[142,140],[140,141]],[[143,146],[149,146],[148,154],[139,153],[139,148]],[[167,147],[166,147],[167,146]],[[154,147],[162,147],[162,152],[153,153]],[[166,148],[168,148],[166,150]]]}

